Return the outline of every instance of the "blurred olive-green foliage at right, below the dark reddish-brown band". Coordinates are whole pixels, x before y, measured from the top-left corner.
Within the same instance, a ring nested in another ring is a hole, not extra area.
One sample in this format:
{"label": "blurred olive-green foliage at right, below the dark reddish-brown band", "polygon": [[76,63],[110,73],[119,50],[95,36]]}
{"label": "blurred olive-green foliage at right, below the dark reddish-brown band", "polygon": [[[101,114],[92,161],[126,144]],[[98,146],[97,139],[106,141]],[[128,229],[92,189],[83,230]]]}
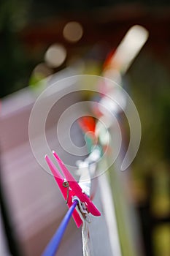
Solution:
{"label": "blurred olive-green foliage at right, below the dark reddish-brown band", "polygon": [[131,97],[142,122],[142,141],[135,165],[142,172],[170,160],[170,76],[168,68],[144,52],[132,65]]}

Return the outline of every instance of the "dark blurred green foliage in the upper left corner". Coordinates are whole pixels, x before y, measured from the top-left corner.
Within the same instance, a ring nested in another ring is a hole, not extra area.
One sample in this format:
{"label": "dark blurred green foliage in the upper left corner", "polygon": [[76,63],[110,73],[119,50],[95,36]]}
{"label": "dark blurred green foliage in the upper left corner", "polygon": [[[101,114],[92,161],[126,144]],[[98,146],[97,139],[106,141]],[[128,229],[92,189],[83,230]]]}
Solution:
{"label": "dark blurred green foliage in the upper left corner", "polygon": [[26,26],[29,1],[7,0],[0,4],[0,97],[28,85],[31,59],[20,41],[19,33]]}

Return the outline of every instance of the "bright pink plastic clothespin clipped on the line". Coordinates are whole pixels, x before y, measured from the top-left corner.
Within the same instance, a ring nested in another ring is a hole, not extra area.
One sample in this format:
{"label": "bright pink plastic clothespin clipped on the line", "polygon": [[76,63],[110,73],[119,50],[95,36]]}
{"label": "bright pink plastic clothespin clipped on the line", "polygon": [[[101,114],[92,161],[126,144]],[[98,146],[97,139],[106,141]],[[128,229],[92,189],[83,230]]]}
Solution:
{"label": "bright pink plastic clothespin clipped on the line", "polygon": [[[80,185],[74,179],[72,174],[69,173],[69,170],[63,164],[63,162],[55,153],[55,151],[53,151],[53,155],[55,159],[57,159],[58,165],[60,165],[61,170],[63,172],[63,176],[65,176],[65,178],[61,175],[61,173],[58,171],[58,169],[55,167],[55,165],[47,155],[45,156],[45,159],[47,161],[48,166],[50,167],[50,170],[53,173],[55,181],[57,181],[58,187],[61,190],[63,198],[66,200],[66,203],[69,206],[69,208],[72,206],[73,203],[72,198],[76,196],[80,199],[81,203],[85,203],[85,207],[87,208],[87,211],[90,214],[93,214],[94,216],[100,216],[100,211],[98,211],[96,206],[94,206],[88,195],[82,192]],[[77,227],[80,227],[82,225],[82,219],[76,208],[74,209],[72,216],[74,218],[74,221],[76,222]]]}

